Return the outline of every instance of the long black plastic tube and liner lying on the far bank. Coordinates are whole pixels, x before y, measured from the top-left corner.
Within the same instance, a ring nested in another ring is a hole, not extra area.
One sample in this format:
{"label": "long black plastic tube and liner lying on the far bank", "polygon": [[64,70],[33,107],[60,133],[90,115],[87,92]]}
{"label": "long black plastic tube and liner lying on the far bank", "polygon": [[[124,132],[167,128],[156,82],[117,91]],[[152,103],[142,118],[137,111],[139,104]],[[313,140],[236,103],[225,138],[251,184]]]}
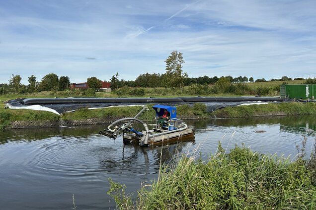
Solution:
{"label": "long black plastic tube and liner lying on the far bank", "polygon": [[254,102],[282,102],[276,97],[179,97],[179,98],[48,98],[48,99],[16,99],[8,102],[11,106],[42,105],[52,108],[58,113],[74,111],[79,108],[108,107],[118,105],[194,105],[203,103],[207,111],[212,112],[226,106],[251,104]]}

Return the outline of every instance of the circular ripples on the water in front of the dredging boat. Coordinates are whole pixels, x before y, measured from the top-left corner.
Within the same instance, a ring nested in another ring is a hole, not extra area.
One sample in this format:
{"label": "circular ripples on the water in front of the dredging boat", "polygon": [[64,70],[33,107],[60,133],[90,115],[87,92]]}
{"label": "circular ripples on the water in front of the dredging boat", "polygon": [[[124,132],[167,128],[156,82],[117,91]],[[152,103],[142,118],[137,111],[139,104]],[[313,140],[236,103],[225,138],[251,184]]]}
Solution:
{"label": "circular ripples on the water in front of the dredging boat", "polygon": [[26,159],[28,174],[82,178],[100,173],[157,173],[158,156],[143,148],[118,144],[103,137],[50,138],[37,144]]}

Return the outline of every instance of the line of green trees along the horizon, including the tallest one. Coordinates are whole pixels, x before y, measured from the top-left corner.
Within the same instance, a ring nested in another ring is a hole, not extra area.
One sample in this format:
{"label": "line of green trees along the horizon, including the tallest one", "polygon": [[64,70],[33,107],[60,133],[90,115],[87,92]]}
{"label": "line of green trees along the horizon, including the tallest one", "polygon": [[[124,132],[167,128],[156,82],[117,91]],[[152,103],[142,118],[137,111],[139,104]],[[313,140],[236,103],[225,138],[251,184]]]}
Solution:
{"label": "line of green trees along the horizon, including the tallest one", "polygon": [[[228,84],[232,83],[247,83],[247,82],[267,82],[264,78],[256,79],[254,81],[253,77],[246,76],[222,76],[222,77],[209,77],[207,75],[200,77],[188,77],[188,74],[182,70],[183,55],[181,52],[173,51],[165,59],[165,73],[144,73],[140,74],[135,80],[124,80],[119,79],[119,73],[116,72],[110,79],[111,89],[119,89],[123,87],[142,87],[142,88],[177,88],[182,93],[184,86],[194,85],[210,85],[210,84],[221,84],[227,88]],[[294,80],[303,78],[294,78]],[[280,79],[270,79],[269,81],[287,81],[292,80],[292,78],[283,76]],[[70,89],[70,78],[68,76],[61,76],[54,73],[49,73],[45,75],[41,81],[36,80],[36,76],[31,75],[28,77],[29,84],[21,84],[21,76],[13,75],[9,79],[9,83],[0,84],[0,95],[7,93],[14,94],[24,94],[24,93],[34,93],[41,91],[65,91]],[[96,77],[87,78],[88,87],[93,91],[98,90],[102,86],[102,81]],[[309,78],[309,84],[315,84],[316,79]]]}

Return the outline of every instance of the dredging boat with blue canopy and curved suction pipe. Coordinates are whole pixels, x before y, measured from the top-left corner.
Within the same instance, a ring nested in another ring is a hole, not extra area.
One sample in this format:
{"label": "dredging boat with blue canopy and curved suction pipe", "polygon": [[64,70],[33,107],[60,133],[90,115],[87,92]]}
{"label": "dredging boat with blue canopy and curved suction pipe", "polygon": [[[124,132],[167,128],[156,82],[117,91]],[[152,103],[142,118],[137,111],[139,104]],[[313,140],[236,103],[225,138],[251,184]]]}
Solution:
{"label": "dredging boat with blue canopy and curved suction pipe", "polygon": [[[189,129],[187,124],[176,117],[176,107],[167,105],[154,105],[156,111],[156,124],[150,130],[148,125],[137,117],[147,107],[143,107],[134,117],[126,117],[112,122],[107,129],[99,133],[109,138],[116,139],[118,135],[123,137],[124,144],[134,143],[141,147],[161,146],[182,141],[194,140],[194,129]],[[168,119],[160,126],[159,120],[165,110],[168,112]],[[143,124],[144,130],[139,131],[132,126],[133,121]],[[116,125],[116,126],[115,126]],[[113,127],[113,128],[112,128]]]}

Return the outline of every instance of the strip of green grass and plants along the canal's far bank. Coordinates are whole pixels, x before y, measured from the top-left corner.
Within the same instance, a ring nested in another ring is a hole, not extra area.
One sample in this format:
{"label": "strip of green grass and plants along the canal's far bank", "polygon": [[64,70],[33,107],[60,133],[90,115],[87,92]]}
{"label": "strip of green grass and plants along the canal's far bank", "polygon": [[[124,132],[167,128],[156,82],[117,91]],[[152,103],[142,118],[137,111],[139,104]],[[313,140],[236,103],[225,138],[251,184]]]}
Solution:
{"label": "strip of green grass and plants along the canal's far bank", "polygon": [[[2,98],[3,99],[3,98]],[[151,122],[155,117],[152,105],[147,105],[148,111],[140,115],[140,119]],[[48,124],[59,120],[68,120],[71,124],[76,120],[87,120],[98,122],[109,122],[109,120],[133,117],[142,109],[141,106],[108,107],[101,109],[80,108],[74,112],[57,115],[48,111],[35,111],[27,109],[4,109],[4,104],[0,104],[0,129],[9,127],[14,121],[24,122],[24,125],[32,125],[36,122]],[[207,118],[247,118],[258,116],[276,115],[316,115],[316,103],[272,103],[266,105],[242,105],[226,107],[214,112],[207,112],[207,106],[202,103],[193,105],[177,105],[177,115],[181,119],[207,119]],[[53,123],[54,124],[54,123]],[[84,124],[84,122],[83,122]],[[35,125],[34,125],[35,126]]]}

